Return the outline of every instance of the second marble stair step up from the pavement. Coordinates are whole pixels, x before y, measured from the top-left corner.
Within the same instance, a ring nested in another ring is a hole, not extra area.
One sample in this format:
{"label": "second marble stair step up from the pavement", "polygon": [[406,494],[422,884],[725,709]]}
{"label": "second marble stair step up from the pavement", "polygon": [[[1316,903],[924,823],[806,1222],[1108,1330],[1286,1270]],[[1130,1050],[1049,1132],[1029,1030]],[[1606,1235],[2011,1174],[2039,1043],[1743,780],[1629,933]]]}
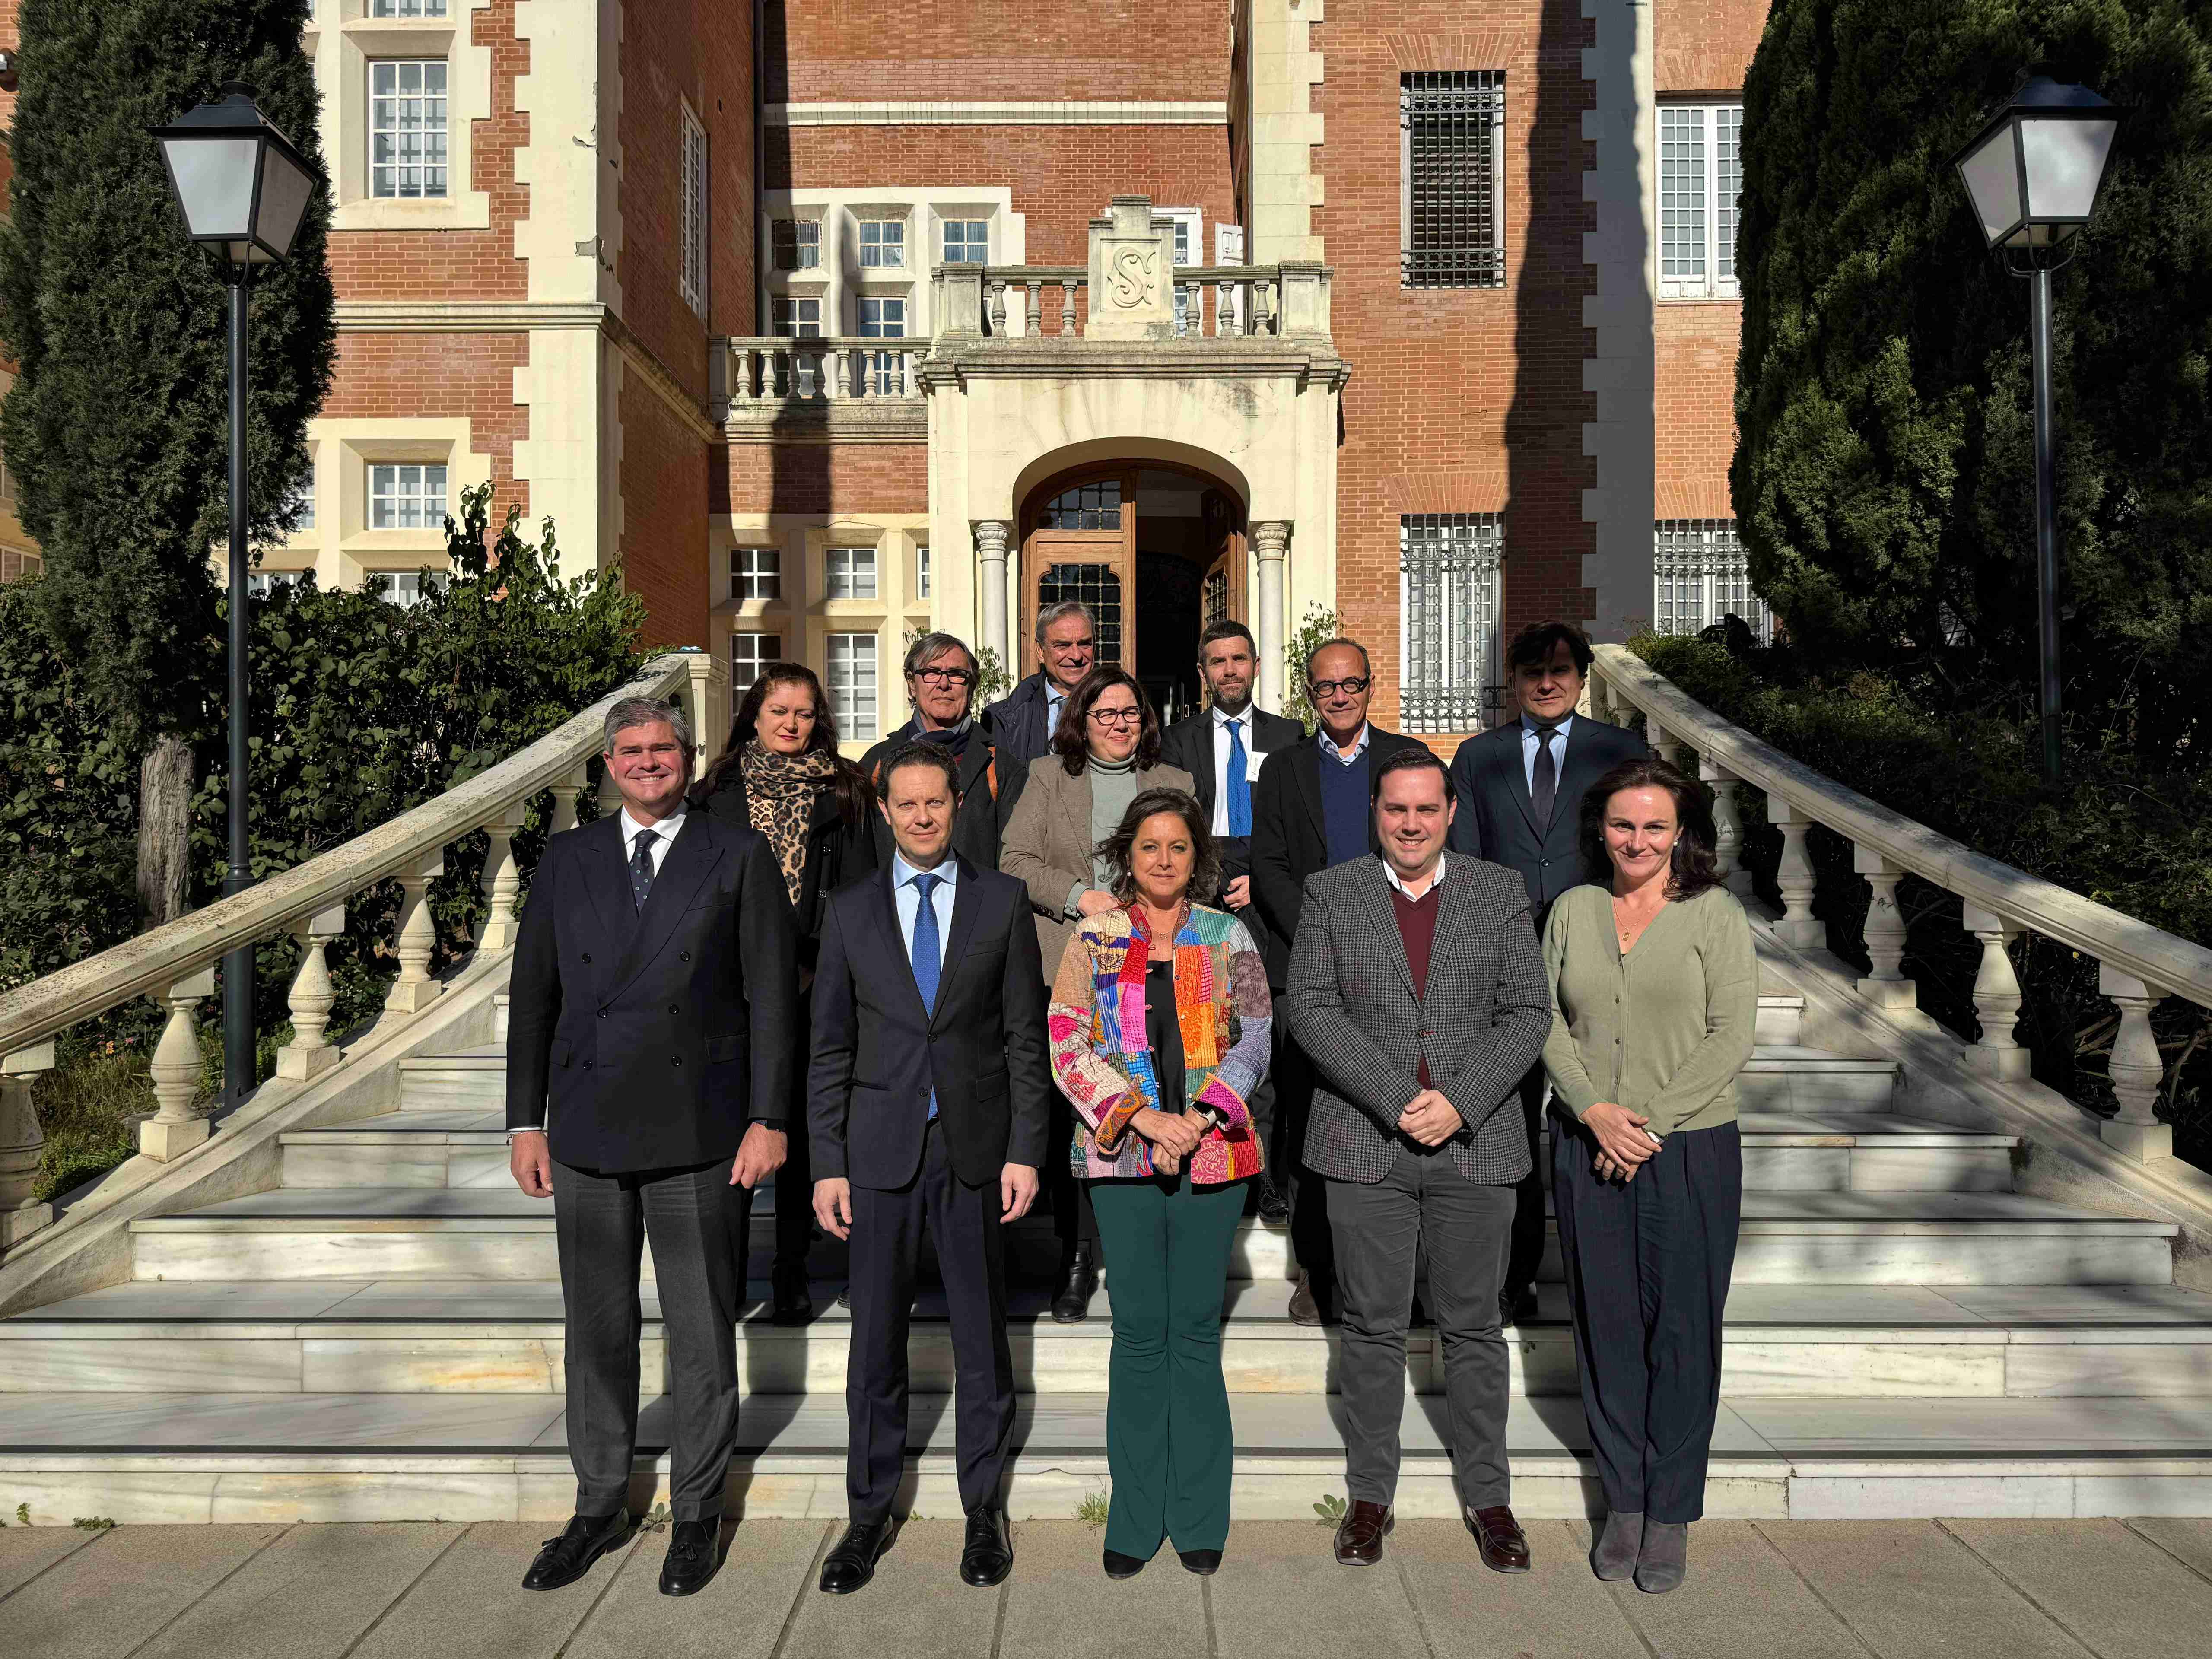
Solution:
{"label": "second marble stair step up from the pavement", "polygon": [[[770,1323],[768,1285],[752,1285],[739,1327],[748,1394],[841,1398],[849,1314],[836,1281],[814,1285],[816,1318]],[[666,1387],[659,1301],[644,1290],[644,1389]],[[1338,1332],[1287,1318],[1283,1283],[1232,1285],[1223,1374],[1232,1394],[1334,1394]],[[914,1310],[914,1387],[951,1389],[945,1296]],[[1055,1325],[1046,1290],[1009,1296],[1024,1394],[1106,1387],[1113,1292],[1091,1318]],[[557,1283],[440,1281],[133,1283],[0,1321],[0,1394],[560,1394]],[[1513,1391],[1577,1391],[1562,1285],[1509,1332]],[[1723,1334],[1732,1396],[2057,1398],[2212,1396],[2212,1296],[2170,1285],[1736,1285]],[[1407,1343],[1407,1387],[1442,1387],[1436,1332]]]}

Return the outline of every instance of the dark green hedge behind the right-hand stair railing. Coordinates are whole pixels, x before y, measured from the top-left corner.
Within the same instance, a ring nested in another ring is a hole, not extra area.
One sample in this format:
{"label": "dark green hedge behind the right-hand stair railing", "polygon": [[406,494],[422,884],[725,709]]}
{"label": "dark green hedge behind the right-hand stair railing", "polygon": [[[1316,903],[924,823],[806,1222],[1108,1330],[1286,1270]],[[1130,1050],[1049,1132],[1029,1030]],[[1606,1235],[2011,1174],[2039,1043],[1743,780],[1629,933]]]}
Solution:
{"label": "dark green hedge behind the right-hand stair railing", "polygon": [[[2077,743],[2066,787],[2053,794],[2033,723],[1929,710],[1867,672],[1823,681],[1787,646],[1730,650],[1705,637],[1644,635],[1628,648],[1683,695],[1902,818],[2168,933],[2212,940],[2212,768],[2152,772],[2119,741]],[[1865,964],[1867,896],[1851,876],[1851,847],[1818,827],[1807,847],[1829,945]],[[1770,896],[1778,856],[1763,799],[1745,792],[1745,865]],[[1958,927],[1958,898],[1918,878],[1900,883],[1898,896],[1911,922],[1905,971],[1920,980],[1920,1006],[1960,1035],[1980,1035],[1980,947]],[[2106,1055],[2117,1022],[2097,991],[2097,962],[2035,936],[2013,958],[2026,991],[2015,1035],[2035,1055],[2035,1075],[2110,1113]],[[2152,1024],[2170,1064],[2161,1110],[2172,1115],[2177,1148],[2212,1164],[2212,1020],[2170,998]]]}

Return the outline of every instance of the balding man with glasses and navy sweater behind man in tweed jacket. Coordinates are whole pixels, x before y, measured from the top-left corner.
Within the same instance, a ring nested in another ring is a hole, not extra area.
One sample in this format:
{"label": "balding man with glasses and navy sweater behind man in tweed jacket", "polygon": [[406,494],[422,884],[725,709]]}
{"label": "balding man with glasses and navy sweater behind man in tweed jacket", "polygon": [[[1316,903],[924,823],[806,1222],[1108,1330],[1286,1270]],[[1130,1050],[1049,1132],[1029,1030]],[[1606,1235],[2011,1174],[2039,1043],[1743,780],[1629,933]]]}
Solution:
{"label": "balding man with glasses and navy sweater behind man in tweed jacket", "polygon": [[[1298,938],[1307,876],[1378,849],[1367,799],[1374,768],[1398,750],[1422,748],[1418,739],[1367,723],[1371,688],[1367,646],[1356,639],[1316,646],[1305,659],[1305,697],[1321,726],[1312,737],[1270,754],[1259,770],[1252,794],[1252,907],[1276,938]],[[1270,953],[1267,984],[1279,1000],[1287,967],[1287,953]],[[1298,1161],[1312,1088],[1310,1064],[1292,1035],[1276,1068],[1274,1097],[1287,1150],[1290,1245],[1298,1256],[1290,1316],[1298,1325],[1321,1325],[1334,1305],[1327,1188],[1307,1179]]]}

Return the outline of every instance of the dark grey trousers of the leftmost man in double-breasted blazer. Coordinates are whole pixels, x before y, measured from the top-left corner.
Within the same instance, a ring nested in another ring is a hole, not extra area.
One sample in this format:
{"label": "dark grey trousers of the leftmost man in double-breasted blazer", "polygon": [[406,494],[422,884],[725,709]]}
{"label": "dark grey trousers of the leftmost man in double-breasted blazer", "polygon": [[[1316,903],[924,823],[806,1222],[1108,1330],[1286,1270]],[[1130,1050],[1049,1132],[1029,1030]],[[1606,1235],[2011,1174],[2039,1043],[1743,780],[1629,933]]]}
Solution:
{"label": "dark grey trousers of the leftmost man in double-breasted blazer", "polygon": [[739,1263],[752,1194],[730,1186],[730,1159],[684,1170],[602,1175],[553,1164],[553,1230],[568,1321],[568,1462],[575,1513],[613,1515],[630,1495],[637,1453],[637,1267],[653,1274],[668,1336],[675,1425],[668,1509],[717,1520],[737,1449]]}

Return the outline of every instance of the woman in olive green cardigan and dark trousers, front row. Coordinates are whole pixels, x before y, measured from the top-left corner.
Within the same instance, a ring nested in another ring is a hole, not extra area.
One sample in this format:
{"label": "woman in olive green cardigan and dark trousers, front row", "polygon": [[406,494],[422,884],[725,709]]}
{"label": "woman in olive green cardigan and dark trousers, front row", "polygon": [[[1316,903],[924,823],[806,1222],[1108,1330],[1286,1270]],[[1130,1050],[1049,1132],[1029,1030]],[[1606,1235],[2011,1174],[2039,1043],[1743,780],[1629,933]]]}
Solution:
{"label": "woman in olive green cardigan and dark trousers, front row", "polygon": [[1551,1192],[1610,1511],[1590,1566],[1659,1593],[1681,1584],[1705,1509],[1759,962],[1701,783],[1624,761],[1584,794],[1582,845],[1613,880],[1562,894],[1544,927]]}

